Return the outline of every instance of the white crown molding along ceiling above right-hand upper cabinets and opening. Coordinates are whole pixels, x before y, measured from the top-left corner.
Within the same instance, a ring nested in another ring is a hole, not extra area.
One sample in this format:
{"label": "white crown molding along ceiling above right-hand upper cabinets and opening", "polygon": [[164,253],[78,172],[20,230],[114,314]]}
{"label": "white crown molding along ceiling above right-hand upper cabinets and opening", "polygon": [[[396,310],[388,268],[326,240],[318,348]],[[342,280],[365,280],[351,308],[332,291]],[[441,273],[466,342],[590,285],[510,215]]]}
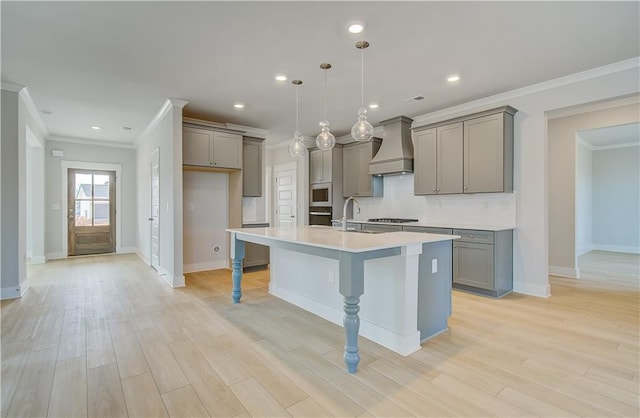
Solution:
{"label": "white crown molding along ceiling above right-hand upper cabinets and opening", "polygon": [[591,80],[593,78],[602,77],[608,74],[614,74],[633,68],[640,67],[640,57],[630,58],[628,60],[619,61],[613,64],[603,65],[602,67],[593,68],[590,70],[582,71],[575,74],[570,74],[564,77],[555,78],[553,80],[543,81],[541,83],[532,84],[530,86],[522,87],[519,89],[507,91],[505,93],[496,94],[493,96],[485,97],[472,102],[463,103],[461,105],[448,107],[446,109],[438,110],[435,112],[427,113],[425,115],[416,116],[413,118],[411,125],[412,129],[420,126],[429,125],[431,123],[439,122],[445,118],[451,116],[451,114],[465,113],[469,111],[477,111],[481,108],[488,108],[488,106],[495,106],[500,103],[507,103],[510,100],[519,98],[522,96],[528,96],[535,93],[540,93],[545,90],[554,89],[557,87],[566,86],[569,84],[578,83],[581,81]]}

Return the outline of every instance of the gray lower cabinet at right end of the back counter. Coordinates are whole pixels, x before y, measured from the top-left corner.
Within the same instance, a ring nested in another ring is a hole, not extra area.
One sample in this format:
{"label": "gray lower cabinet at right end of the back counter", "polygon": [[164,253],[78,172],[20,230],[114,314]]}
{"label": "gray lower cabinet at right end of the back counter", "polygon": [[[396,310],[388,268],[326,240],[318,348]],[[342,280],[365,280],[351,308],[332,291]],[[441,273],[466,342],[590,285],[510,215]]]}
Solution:
{"label": "gray lower cabinet at right end of the back counter", "polygon": [[513,231],[454,229],[453,285],[487,296],[513,290]]}

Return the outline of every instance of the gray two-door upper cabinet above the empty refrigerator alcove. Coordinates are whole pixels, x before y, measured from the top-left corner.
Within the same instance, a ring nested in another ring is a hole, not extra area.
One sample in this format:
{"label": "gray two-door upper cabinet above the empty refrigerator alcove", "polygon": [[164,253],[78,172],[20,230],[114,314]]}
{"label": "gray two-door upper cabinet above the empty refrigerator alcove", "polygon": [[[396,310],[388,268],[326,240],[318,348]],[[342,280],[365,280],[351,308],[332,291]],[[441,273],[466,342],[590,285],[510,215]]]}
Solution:
{"label": "gray two-door upper cabinet above the empty refrigerator alcove", "polygon": [[242,169],[242,135],[185,126],[182,164]]}

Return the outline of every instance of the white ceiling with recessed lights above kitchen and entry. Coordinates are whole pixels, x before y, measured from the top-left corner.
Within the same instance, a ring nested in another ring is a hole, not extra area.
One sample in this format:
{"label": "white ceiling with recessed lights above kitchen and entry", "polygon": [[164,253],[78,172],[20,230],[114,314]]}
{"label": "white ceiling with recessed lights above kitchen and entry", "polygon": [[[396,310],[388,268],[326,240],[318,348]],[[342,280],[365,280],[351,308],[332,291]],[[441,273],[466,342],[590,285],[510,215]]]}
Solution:
{"label": "white ceiling with recessed lights above kitchen and entry", "polygon": [[[349,132],[640,56],[631,2],[8,2],[2,81],[28,87],[51,136],[133,143],[166,98],[185,115],[269,131],[318,133],[329,62],[328,119]],[[350,20],[367,24],[361,35]],[[284,73],[287,82],[274,76]],[[447,75],[462,79],[450,85]],[[420,102],[404,99],[423,95]],[[235,110],[234,102],[245,109]],[[94,131],[91,125],[100,125]],[[130,126],[125,131],[123,126]]]}

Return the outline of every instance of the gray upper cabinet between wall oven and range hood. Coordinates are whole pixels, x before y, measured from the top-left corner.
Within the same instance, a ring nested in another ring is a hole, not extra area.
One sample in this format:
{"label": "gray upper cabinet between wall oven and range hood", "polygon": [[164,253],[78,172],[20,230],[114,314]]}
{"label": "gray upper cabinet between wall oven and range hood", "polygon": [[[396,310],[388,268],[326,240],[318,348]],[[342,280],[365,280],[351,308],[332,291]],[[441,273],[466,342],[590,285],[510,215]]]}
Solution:
{"label": "gray upper cabinet between wall oven and range hood", "polygon": [[369,174],[369,162],[380,149],[380,139],[345,145],[342,159],[342,193],[344,197],[382,196],[382,177]]}

